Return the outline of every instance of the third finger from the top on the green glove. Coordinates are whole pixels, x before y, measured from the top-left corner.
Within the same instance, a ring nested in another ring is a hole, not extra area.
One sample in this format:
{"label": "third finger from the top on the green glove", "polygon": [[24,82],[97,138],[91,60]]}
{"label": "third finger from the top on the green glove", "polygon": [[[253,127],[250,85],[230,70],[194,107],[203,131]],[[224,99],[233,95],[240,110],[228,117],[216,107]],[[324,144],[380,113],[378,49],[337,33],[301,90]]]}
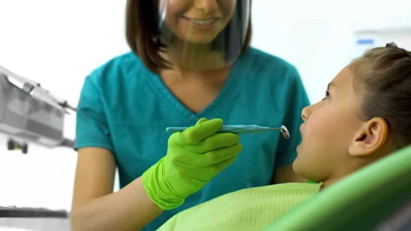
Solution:
{"label": "third finger from the top on the green glove", "polygon": [[212,165],[216,165],[219,162],[224,162],[234,156],[238,156],[242,150],[242,145],[237,143],[236,145],[232,145],[230,147],[223,147],[221,149],[216,149],[213,151],[208,151],[203,155],[193,155],[187,162],[188,165],[193,167],[210,167]]}

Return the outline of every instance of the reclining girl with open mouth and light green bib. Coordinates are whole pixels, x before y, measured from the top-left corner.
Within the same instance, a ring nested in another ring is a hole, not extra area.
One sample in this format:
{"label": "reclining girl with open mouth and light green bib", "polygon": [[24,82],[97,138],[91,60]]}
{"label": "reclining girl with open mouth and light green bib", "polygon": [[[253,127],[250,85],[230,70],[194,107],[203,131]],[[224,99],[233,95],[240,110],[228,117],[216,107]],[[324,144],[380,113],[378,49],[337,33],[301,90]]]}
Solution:
{"label": "reclining girl with open mouth and light green bib", "polygon": [[[297,204],[411,144],[411,52],[395,44],[366,51],[304,108],[295,173],[311,182],[244,189],[172,217],[159,230],[263,230]],[[238,173],[240,177],[241,173]]]}

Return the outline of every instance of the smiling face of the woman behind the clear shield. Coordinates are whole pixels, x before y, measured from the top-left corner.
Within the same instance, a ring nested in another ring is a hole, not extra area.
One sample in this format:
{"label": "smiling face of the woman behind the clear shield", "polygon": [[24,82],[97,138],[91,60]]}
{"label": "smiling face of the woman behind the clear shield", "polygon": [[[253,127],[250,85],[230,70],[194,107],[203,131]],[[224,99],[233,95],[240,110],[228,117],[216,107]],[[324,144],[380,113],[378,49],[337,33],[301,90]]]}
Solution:
{"label": "smiling face of the woman behind the clear shield", "polygon": [[181,40],[208,44],[227,26],[236,0],[160,0],[165,24]]}

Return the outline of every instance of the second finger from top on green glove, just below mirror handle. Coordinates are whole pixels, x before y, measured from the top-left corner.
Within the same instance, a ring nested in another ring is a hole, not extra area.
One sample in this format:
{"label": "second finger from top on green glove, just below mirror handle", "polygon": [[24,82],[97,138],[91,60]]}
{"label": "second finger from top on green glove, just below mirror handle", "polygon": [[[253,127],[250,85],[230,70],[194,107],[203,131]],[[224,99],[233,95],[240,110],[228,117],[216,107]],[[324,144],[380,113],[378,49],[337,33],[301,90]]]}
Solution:
{"label": "second finger from top on green glove, just below mirror handle", "polygon": [[185,149],[195,154],[205,154],[208,151],[231,147],[240,141],[240,136],[233,133],[217,133],[209,136],[195,145],[187,145]]}

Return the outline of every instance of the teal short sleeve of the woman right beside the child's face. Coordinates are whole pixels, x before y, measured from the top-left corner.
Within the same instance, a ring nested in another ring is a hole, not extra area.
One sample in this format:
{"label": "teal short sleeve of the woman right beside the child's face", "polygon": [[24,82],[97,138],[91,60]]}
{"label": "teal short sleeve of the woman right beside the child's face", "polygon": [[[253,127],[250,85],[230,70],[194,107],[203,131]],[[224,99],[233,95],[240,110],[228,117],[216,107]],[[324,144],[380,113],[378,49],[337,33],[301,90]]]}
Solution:
{"label": "teal short sleeve of the woman right beside the child's face", "polygon": [[284,78],[288,80],[288,88],[286,88],[287,99],[285,101],[286,111],[283,124],[288,128],[288,132],[290,132],[290,139],[284,140],[282,138],[279,141],[275,161],[276,167],[291,165],[295,158],[297,158],[297,146],[301,143],[299,126],[303,123],[301,110],[310,105],[306,88],[304,88],[301,77],[294,66],[290,65]]}

